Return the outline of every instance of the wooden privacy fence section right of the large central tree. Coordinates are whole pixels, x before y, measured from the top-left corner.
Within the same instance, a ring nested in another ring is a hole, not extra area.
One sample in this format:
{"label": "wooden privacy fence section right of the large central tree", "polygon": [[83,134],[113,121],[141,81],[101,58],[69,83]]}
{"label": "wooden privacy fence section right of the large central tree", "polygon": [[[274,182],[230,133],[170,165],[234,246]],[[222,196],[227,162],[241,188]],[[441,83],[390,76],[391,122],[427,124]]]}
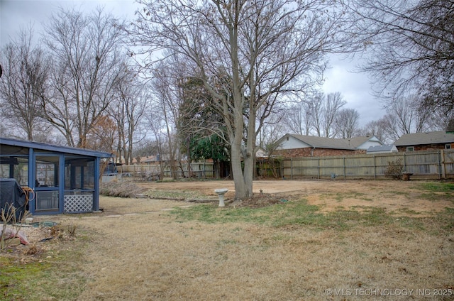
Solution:
{"label": "wooden privacy fence section right of the large central tree", "polygon": [[454,178],[454,150],[380,153],[283,159],[284,178],[380,179],[386,177],[389,163],[398,160],[404,173],[416,179]]}

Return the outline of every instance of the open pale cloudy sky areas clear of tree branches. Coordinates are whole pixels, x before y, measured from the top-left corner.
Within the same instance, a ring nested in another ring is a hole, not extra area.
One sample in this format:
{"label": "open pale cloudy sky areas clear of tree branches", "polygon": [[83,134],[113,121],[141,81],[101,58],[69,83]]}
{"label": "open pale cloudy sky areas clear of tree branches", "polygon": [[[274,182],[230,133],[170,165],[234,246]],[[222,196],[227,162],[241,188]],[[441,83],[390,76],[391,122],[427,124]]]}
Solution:
{"label": "open pale cloudy sky areas clear of tree branches", "polygon": [[[35,33],[38,34],[42,30],[41,24],[60,6],[87,11],[102,6],[106,12],[125,18],[133,18],[134,11],[139,7],[133,0],[0,0],[0,45],[4,46],[21,27],[29,24],[33,24]],[[367,75],[352,72],[355,70],[355,62],[342,60],[341,57],[332,57],[330,62],[323,91],[341,92],[347,101],[345,107],[356,109],[360,113],[362,126],[380,119],[384,111],[380,102],[371,94]]]}

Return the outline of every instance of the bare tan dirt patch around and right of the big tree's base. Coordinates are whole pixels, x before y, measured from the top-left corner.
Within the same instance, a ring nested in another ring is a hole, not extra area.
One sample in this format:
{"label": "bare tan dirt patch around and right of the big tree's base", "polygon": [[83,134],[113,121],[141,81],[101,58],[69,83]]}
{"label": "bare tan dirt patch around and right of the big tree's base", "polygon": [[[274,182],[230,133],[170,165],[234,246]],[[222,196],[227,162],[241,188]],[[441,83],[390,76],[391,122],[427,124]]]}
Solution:
{"label": "bare tan dirt patch around and right of the big tree's base", "polygon": [[260,180],[253,185],[254,197],[233,202],[233,181],[204,182],[148,182],[140,183],[148,190],[197,191],[216,198],[214,190],[227,188],[226,203],[236,206],[261,207],[276,204],[282,199],[307,199],[318,205],[322,212],[339,209],[362,210],[365,207],[380,207],[394,214],[433,214],[454,207],[449,199],[427,199],[417,187],[420,181],[343,181],[343,180]]}

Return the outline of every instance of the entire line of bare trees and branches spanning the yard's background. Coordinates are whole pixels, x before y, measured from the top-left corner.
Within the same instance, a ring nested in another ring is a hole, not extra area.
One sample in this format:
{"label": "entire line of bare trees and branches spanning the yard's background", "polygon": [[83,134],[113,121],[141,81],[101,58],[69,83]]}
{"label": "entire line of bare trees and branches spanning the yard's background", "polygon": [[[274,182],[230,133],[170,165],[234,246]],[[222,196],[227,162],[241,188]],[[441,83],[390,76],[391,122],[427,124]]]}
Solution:
{"label": "entire line of bare trees and branches spanning the yard's background", "polygon": [[[255,152],[284,133],[349,138],[444,129],[453,119],[454,4],[140,0],[135,20],[60,9],[1,50],[1,136],[140,155],[229,160],[252,195]],[[320,85],[328,55],[362,55],[387,114]],[[117,159],[117,160],[118,160]]]}

